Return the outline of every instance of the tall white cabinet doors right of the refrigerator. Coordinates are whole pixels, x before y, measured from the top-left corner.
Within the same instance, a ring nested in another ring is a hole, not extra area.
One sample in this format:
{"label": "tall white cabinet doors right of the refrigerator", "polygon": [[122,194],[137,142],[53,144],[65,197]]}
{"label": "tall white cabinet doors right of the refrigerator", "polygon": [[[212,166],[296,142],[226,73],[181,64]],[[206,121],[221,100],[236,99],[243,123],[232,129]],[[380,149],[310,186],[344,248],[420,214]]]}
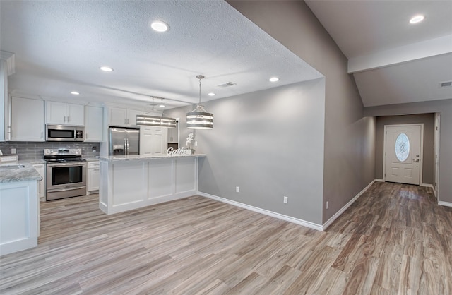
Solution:
{"label": "tall white cabinet doors right of the refrigerator", "polygon": [[165,155],[167,128],[140,126],[140,155]]}

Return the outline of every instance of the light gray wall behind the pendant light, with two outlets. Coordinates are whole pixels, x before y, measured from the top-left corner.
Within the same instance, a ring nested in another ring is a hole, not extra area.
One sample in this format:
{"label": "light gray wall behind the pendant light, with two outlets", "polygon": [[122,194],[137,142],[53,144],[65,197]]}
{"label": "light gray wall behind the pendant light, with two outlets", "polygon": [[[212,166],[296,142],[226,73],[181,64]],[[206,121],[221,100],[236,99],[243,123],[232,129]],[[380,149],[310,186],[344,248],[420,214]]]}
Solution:
{"label": "light gray wall behind the pendant light, with two outlets", "polygon": [[[215,120],[196,131],[207,155],[198,191],[321,224],[324,88],[321,78],[206,102]],[[191,109],[167,112],[181,118],[182,144]]]}

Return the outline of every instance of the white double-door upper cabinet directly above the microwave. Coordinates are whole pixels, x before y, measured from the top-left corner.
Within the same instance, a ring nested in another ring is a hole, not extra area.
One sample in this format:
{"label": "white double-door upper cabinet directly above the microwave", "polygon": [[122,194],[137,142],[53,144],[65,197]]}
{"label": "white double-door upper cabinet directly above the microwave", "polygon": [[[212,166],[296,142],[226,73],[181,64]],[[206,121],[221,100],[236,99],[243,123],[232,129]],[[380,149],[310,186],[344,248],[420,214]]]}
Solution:
{"label": "white double-door upper cabinet directly above the microwave", "polygon": [[85,125],[85,106],[65,102],[46,102],[46,124]]}

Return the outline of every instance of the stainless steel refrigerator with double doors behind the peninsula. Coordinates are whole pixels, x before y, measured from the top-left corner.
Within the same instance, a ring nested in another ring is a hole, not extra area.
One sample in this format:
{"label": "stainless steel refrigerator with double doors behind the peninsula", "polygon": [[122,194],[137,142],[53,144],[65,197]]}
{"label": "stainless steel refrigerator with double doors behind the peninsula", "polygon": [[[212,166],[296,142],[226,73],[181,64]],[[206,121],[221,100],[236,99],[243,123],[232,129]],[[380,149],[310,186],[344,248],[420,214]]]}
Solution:
{"label": "stainless steel refrigerator with double doors behind the peninsula", "polygon": [[139,155],[140,129],[139,128],[109,128],[110,156]]}

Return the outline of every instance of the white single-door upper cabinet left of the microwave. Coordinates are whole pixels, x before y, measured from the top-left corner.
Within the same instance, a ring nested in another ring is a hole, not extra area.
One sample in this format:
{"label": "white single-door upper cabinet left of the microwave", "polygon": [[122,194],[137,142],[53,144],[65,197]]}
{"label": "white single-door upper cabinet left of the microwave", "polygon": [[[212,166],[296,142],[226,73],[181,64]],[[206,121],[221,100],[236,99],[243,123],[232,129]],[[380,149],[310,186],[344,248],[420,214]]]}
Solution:
{"label": "white single-door upper cabinet left of the microwave", "polygon": [[11,141],[44,140],[44,101],[11,97]]}

